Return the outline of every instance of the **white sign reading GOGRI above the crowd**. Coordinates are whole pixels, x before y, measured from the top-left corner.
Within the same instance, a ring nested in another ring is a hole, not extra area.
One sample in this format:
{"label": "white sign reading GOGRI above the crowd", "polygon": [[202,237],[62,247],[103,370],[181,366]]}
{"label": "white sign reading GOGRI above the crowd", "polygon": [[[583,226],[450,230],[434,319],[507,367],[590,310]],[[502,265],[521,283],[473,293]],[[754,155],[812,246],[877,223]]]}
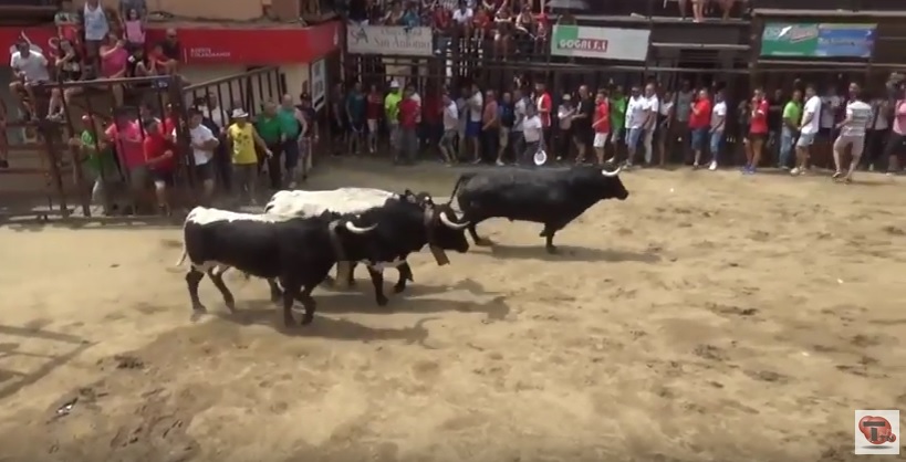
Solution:
{"label": "white sign reading GOGRI above the crowd", "polygon": [[638,29],[554,25],[551,54],[645,61],[648,57],[650,36],[650,31]]}

